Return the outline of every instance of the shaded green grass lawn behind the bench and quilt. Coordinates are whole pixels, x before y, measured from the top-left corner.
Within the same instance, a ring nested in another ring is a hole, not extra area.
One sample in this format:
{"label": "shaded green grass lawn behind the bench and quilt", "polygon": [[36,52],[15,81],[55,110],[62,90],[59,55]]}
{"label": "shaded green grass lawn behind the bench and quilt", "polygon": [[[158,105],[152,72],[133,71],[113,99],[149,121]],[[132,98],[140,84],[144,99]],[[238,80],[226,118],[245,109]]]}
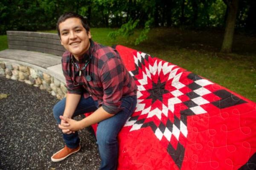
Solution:
{"label": "shaded green grass lawn behind the bench and quilt", "polygon": [[[111,28],[91,28],[93,40],[103,45],[125,45],[159,57],[211,80],[248,99],[256,101],[256,37],[236,34],[233,53],[221,54],[222,31],[193,31],[153,28],[148,40],[133,45],[123,37],[112,40]],[[56,33],[56,31],[47,31]],[[136,32],[136,37],[138,31]],[[131,37],[129,41],[133,41]],[[7,48],[6,36],[0,37],[1,50]],[[3,46],[3,47],[2,47]]]}

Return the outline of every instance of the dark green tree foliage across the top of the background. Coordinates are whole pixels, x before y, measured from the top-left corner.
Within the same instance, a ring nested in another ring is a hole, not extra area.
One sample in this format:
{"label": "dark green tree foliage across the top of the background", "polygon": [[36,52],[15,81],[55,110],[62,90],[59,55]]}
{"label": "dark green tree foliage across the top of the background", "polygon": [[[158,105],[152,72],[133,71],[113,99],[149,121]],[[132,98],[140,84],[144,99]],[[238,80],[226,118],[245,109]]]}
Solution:
{"label": "dark green tree foliage across the top of the background", "polygon": [[[256,20],[253,4],[253,0],[240,0],[239,28],[256,25],[249,24]],[[134,35],[134,28],[143,28],[135,41],[138,44],[146,39],[153,24],[155,27],[223,28],[226,8],[224,0],[1,0],[0,34],[6,30],[54,29],[61,14],[75,11],[87,17],[91,27],[120,28],[119,34],[124,36]]]}

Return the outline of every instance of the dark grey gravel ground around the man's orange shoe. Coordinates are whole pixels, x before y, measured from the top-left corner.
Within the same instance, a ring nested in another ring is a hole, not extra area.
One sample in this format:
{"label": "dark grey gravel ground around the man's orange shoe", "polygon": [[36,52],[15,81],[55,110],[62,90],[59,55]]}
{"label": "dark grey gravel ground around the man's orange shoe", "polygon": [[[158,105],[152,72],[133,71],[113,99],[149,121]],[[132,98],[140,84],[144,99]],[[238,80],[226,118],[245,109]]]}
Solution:
{"label": "dark grey gravel ground around the man's orange shoe", "polygon": [[[95,137],[80,131],[81,150],[61,162],[53,153],[64,146],[52,115],[58,99],[24,82],[0,77],[0,170],[97,170]],[[79,119],[79,118],[78,118]],[[81,119],[81,118],[80,118]]]}

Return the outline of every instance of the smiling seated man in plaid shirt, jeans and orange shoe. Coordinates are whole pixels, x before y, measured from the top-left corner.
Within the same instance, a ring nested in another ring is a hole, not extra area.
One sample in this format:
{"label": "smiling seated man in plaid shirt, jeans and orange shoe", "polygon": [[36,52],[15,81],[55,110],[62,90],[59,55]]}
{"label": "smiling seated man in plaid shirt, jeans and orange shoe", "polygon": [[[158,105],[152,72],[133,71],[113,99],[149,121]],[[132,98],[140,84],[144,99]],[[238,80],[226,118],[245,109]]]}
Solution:
{"label": "smiling seated man in plaid shirt, jeans and orange shoe", "polygon": [[[52,161],[61,161],[80,150],[77,130],[95,123],[101,170],[115,170],[118,160],[117,135],[137,104],[137,86],[118,52],[91,40],[90,28],[79,14],[61,15],[57,23],[61,45],[67,51],[62,70],[67,82],[67,97],[53,108],[62,130],[65,146]],[[76,121],[79,114],[93,112]]]}

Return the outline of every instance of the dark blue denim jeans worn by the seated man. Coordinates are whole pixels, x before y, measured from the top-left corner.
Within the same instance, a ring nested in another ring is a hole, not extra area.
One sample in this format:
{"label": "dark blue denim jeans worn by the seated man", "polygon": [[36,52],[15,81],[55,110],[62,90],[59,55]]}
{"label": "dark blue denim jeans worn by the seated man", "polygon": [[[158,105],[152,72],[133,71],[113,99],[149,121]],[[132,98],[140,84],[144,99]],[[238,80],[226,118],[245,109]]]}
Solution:
{"label": "dark blue denim jeans worn by the seated man", "polygon": [[[66,98],[59,101],[53,108],[53,115],[57,123],[61,123],[59,118],[63,115],[65,109]],[[116,170],[118,161],[118,141],[117,135],[126,120],[131,116],[137,104],[137,96],[126,96],[122,98],[122,111],[116,113],[115,116],[99,122],[97,127],[97,144],[99,146],[99,154],[101,157],[100,170]],[[84,99],[81,96],[80,102],[76,107],[72,117],[83,113],[93,112],[98,109],[98,102],[94,101],[92,97]],[[80,139],[78,133],[64,134],[63,139],[67,147],[75,148],[79,145]]]}

